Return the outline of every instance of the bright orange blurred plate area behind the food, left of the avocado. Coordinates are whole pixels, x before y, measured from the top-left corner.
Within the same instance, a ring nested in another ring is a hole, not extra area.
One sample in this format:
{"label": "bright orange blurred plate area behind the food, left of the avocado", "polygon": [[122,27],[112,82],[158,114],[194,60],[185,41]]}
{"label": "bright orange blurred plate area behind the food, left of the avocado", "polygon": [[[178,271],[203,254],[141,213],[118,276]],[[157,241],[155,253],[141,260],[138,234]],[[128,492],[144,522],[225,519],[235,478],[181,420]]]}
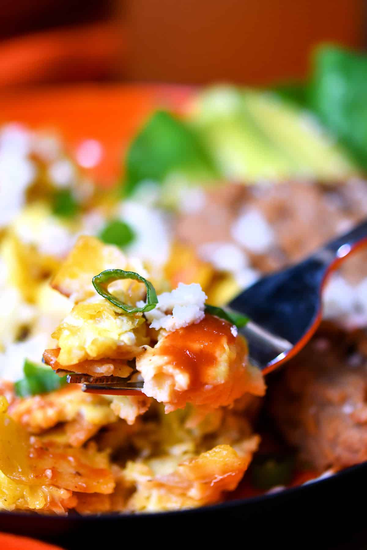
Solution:
{"label": "bright orange blurred plate area behind the food, left of the avocado", "polygon": [[182,112],[194,94],[190,86],[84,84],[0,92],[0,123],[19,122],[56,130],[73,153],[83,139],[103,146],[102,161],[90,172],[111,184],[136,130],[157,108]]}

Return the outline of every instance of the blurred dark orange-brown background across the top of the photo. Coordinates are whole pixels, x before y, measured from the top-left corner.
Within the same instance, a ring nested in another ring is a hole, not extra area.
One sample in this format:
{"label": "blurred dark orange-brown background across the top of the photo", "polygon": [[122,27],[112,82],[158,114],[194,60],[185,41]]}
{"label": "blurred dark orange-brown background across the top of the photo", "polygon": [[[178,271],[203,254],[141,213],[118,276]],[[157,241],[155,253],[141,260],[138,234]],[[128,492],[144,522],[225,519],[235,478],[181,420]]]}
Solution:
{"label": "blurred dark orange-brown background across the top of the photo", "polygon": [[363,48],[364,0],[3,0],[0,86],[267,84],[320,42]]}

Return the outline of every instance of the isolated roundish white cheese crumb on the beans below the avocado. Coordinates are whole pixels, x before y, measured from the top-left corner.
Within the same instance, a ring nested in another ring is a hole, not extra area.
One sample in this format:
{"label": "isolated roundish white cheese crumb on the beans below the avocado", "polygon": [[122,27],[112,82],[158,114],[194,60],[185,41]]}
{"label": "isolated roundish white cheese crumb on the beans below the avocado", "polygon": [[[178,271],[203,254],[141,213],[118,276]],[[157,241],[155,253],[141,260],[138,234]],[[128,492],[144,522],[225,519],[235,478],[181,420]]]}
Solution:
{"label": "isolated roundish white cheese crumb on the beans below the avocado", "polygon": [[243,211],[231,227],[233,239],[254,254],[265,254],[275,242],[275,234],[261,212]]}

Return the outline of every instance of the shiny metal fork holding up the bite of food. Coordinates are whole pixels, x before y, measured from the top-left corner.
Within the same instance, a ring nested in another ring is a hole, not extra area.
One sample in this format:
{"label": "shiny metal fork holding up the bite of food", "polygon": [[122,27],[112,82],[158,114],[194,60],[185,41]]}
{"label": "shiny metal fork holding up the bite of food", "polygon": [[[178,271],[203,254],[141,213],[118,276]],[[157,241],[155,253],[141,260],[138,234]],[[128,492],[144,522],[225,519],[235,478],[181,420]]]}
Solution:
{"label": "shiny metal fork holding up the bite of food", "polygon": [[[226,308],[249,317],[240,329],[249,346],[249,361],[264,374],[296,355],[321,322],[322,289],[330,274],[349,254],[367,246],[367,220],[329,241],[303,260],[261,278]],[[127,378],[68,375],[68,382],[82,383],[88,393],[141,395],[143,381]]]}

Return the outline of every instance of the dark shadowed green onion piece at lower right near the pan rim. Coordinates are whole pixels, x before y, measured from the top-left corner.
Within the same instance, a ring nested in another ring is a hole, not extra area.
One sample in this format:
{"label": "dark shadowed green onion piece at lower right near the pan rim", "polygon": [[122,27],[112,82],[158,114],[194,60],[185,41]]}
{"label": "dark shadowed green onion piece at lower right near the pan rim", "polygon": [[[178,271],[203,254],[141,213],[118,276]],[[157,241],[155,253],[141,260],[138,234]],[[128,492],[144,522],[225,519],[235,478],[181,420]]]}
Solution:
{"label": "dark shadowed green onion piece at lower right near the pan rim", "polygon": [[267,491],[277,485],[288,485],[294,472],[293,456],[257,456],[250,466],[253,485]]}

